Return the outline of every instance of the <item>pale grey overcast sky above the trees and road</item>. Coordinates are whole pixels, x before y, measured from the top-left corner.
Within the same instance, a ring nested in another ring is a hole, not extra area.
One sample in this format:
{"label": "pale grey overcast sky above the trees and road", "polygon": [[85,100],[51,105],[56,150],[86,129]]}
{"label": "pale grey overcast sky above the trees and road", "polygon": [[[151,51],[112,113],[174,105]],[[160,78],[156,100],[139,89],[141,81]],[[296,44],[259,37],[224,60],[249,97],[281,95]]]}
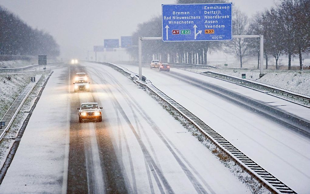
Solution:
{"label": "pale grey overcast sky above the trees and road", "polygon": [[[249,16],[278,0],[232,0]],[[137,24],[161,14],[161,4],[175,0],[0,0],[0,5],[28,25],[50,33],[60,45],[60,57],[85,59],[105,38],[130,36]]]}

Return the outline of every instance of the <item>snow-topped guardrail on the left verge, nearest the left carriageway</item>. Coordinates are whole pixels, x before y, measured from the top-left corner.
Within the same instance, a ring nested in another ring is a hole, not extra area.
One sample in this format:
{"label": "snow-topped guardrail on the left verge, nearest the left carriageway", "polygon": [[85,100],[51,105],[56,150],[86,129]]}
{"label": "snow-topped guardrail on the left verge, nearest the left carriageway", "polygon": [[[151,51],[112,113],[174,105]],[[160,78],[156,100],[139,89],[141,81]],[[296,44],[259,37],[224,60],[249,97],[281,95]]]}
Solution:
{"label": "snow-topped guardrail on the left verge, nearest the left carriageway", "polygon": [[1,121],[5,122],[4,128],[0,129],[0,140],[3,138],[7,130],[10,128],[15,116],[17,115],[18,111],[20,110],[21,106],[24,104],[26,98],[29,96],[30,92],[33,90],[34,86],[38,83],[41,79],[42,75],[36,80],[36,82],[30,82],[22,92],[18,95],[15,99],[13,104],[7,110]]}

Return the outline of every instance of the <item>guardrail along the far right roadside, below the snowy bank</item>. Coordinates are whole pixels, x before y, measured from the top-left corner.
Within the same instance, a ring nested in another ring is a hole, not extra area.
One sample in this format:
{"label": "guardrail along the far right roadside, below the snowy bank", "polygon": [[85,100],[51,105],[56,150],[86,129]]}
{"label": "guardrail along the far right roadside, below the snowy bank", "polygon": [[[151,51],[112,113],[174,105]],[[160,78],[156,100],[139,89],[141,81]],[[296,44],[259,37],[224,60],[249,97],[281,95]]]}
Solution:
{"label": "guardrail along the far right roadside, below the snowy bank", "polygon": [[303,101],[308,101],[310,103],[310,96],[302,94],[302,93],[298,93],[298,92],[294,92],[294,91],[290,91],[284,88],[279,88],[277,86],[273,86],[270,84],[266,84],[266,83],[261,83],[258,81],[252,81],[252,80],[248,80],[248,79],[242,79],[236,76],[232,76],[232,75],[228,75],[228,74],[223,74],[223,73],[218,73],[218,72],[213,72],[213,71],[206,71],[203,72],[205,75],[211,76],[211,77],[215,77],[215,78],[220,78],[220,79],[224,79],[224,80],[228,80],[228,81],[232,81],[235,83],[241,83],[244,85],[248,85],[251,87],[255,87],[255,88],[259,88],[259,89],[263,89],[263,90],[268,90],[270,92],[273,93],[277,93],[277,94],[282,94],[282,95],[286,95],[287,97],[292,97],[292,98],[297,98],[297,99],[302,99]]}

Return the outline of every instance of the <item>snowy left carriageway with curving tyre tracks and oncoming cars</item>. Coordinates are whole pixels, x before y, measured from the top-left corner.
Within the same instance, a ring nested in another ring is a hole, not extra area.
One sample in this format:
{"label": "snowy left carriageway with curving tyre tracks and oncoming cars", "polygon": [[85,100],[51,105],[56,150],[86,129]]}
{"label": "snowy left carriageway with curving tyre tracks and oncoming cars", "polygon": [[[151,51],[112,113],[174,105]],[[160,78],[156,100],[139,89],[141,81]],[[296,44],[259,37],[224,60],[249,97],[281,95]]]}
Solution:
{"label": "snowy left carriageway with curving tyre tracks and oncoming cars", "polygon": [[[91,92],[73,92],[76,71],[90,75]],[[101,123],[78,123],[77,107],[89,101],[104,107]],[[112,68],[92,63],[55,69],[0,185],[1,193],[66,189],[250,193],[146,92]]]}

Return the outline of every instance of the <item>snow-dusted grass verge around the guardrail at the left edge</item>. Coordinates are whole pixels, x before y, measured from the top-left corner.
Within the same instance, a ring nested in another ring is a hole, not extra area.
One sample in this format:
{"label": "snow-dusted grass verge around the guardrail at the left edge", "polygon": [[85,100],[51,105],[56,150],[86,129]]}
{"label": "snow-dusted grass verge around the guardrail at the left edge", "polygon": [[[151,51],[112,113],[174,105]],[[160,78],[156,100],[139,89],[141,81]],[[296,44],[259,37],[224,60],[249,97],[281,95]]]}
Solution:
{"label": "snow-dusted grass verge around the guardrail at the left edge", "polygon": [[[32,92],[30,92],[29,96],[26,98],[24,104],[20,108],[20,111],[17,113],[13,123],[11,124],[11,127],[8,129],[7,133],[2,138],[0,142],[0,167],[3,166],[7,158],[7,155],[12,147],[12,144],[18,135],[21,125],[23,124],[24,120],[26,119],[28,115],[27,112],[30,110],[31,106],[33,105],[36,99],[36,96],[38,95],[41,89],[41,86],[44,83],[44,79],[48,76],[49,73],[50,73],[49,71],[46,71],[45,73],[42,74],[42,78],[33,88]],[[6,95],[0,96],[0,100],[3,102],[2,106],[0,107],[1,118],[3,117],[7,109],[11,106],[11,104],[14,102],[15,98],[20,94],[20,92],[30,82],[30,77],[33,77],[36,74],[37,74],[36,72],[25,72],[25,73],[12,74],[14,75],[14,78],[18,80],[19,82],[16,83],[16,88],[7,87],[6,90],[3,91]],[[0,77],[2,77],[2,75],[3,74],[0,74]],[[2,82],[1,78],[0,78],[0,82]]]}

